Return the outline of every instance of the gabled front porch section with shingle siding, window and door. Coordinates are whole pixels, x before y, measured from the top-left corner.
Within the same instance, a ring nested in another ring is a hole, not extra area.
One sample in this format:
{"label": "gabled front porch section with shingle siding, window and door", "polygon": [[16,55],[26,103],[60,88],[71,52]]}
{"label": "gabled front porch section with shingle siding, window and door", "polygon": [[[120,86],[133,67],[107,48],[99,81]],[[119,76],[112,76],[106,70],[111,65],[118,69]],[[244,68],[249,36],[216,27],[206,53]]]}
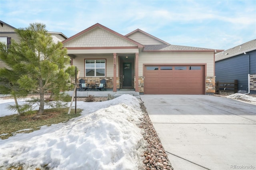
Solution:
{"label": "gabled front porch section with shingle siding, window and door", "polygon": [[96,85],[106,79],[106,88],[113,92],[133,88],[143,93],[138,84],[142,44],[98,23],[62,43],[68,50],[71,65],[80,70],[79,79],[87,84]]}

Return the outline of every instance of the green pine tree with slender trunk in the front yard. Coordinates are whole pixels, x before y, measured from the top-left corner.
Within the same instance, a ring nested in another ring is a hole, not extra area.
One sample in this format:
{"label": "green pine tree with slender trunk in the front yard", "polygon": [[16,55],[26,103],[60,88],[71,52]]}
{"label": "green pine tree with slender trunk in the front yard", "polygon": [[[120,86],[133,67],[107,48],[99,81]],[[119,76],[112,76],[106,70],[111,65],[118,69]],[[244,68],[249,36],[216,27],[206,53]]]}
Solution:
{"label": "green pine tree with slender trunk in the front yard", "polygon": [[34,23],[28,28],[15,31],[20,38],[19,42],[12,40],[8,51],[0,47],[0,58],[11,68],[9,71],[13,71],[14,75],[16,73],[17,94],[33,91],[40,95],[38,114],[42,115],[46,104],[45,93],[58,96],[60,91],[67,90],[74,67],[67,67],[70,62],[67,49],[63,48],[61,42],[52,41],[45,24]]}

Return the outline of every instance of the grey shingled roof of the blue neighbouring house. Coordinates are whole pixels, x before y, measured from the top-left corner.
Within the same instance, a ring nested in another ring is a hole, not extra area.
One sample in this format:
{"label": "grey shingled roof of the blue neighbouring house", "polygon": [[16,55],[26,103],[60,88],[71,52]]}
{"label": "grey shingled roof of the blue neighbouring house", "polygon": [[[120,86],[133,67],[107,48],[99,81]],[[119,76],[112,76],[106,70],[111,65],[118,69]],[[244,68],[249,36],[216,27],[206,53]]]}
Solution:
{"label": "grey shingled roof of the blue neighbouring house", "polygon": [[247,53],[253,50],[256,50],[256,39],[243,43],[241,45],[237,45],[236,47],[227,49],[225,51],[222,51],[221,53],[217,53],[215,55],[215,61],[219,61],[229,57],[234,57],[236,55]]}

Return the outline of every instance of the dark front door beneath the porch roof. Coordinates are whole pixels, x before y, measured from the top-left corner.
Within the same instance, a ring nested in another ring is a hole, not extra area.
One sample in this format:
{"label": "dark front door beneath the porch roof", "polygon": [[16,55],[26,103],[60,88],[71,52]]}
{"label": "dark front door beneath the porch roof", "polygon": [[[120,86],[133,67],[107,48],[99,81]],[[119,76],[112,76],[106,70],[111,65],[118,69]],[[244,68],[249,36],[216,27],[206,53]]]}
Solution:
{"label": "dark front door beneath the porch roof", "polygon": [[123,87],[132,87],[132,63],[123,63]]}

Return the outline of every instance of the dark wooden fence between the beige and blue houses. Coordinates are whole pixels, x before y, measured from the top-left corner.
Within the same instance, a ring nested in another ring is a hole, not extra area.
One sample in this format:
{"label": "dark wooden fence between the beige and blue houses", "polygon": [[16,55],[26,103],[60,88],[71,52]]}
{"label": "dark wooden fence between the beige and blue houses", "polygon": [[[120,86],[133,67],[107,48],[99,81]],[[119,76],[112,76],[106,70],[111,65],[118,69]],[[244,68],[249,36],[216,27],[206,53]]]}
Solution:
{"label": "dark wooden fence between the beige and blue houses", "polygon": [[226,92],[226,91],[234,91],[234,93],[237,93],[238,91],[238,80],[234,80],[233,83],[226,83],[226,82],[219,82],[217,81],[215,84],[215,94],[220,94],[220,91]]}

